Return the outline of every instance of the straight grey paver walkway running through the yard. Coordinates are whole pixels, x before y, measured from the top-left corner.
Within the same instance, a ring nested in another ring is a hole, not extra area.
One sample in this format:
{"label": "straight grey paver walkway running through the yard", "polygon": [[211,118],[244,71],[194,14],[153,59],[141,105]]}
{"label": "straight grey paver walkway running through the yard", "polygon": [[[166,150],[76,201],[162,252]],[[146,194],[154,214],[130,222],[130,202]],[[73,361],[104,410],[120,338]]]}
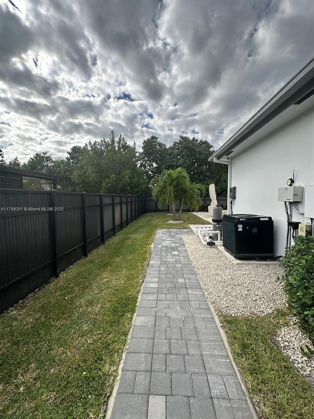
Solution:
{"label": "straight grey paver walkway running through the yard", "polygon": [[110,419],[252,419],[185,249],[157,230]]}

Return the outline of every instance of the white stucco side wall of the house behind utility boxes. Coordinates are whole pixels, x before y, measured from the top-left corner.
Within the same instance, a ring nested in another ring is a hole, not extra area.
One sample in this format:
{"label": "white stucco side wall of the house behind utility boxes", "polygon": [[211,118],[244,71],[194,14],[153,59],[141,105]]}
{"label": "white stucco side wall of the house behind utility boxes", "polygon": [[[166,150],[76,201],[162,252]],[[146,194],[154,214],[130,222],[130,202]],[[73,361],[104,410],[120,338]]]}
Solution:
{"label": "white stucco side wall of the house behind utility boxes", "polygon": [[[275,256],[284,254],[287,235],[285,206],[278,201],[278,188],[287,186],[293,169],[295,186],[314,185],[314,108],[232,159],[231,186],[236,186],[233,213],[272,217]],[[298,209],[304,211],[304,197]],[[292,221],[310,219],[293,210]]]}

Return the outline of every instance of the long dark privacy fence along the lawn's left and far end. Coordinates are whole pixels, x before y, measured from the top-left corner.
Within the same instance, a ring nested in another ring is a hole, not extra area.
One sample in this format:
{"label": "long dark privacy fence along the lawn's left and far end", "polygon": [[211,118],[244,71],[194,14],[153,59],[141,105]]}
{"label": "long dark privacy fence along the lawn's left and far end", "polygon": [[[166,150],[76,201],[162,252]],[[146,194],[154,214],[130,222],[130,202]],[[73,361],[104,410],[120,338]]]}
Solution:
{"label": "long dark privacy fence along the lawn's left and far end", "polygon": [[0,189],[0,313],[156,211],[169,208],[160,210],[152,196]]}

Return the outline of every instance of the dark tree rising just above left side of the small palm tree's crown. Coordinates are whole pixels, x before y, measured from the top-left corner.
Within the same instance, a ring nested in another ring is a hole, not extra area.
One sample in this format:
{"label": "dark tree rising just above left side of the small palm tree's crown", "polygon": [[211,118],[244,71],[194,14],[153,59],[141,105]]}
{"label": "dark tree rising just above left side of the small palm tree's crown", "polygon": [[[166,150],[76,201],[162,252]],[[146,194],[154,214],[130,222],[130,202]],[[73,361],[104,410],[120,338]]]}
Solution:
{"label": "dark tree rising just above left side of the small palm tree's crown", "polygon": [[145,178],[151,181],[159,176],[167,162],[167,147],[158,141],[154,135],[143,141],[142,151],[139,155],[140,168],[145,170]]}

